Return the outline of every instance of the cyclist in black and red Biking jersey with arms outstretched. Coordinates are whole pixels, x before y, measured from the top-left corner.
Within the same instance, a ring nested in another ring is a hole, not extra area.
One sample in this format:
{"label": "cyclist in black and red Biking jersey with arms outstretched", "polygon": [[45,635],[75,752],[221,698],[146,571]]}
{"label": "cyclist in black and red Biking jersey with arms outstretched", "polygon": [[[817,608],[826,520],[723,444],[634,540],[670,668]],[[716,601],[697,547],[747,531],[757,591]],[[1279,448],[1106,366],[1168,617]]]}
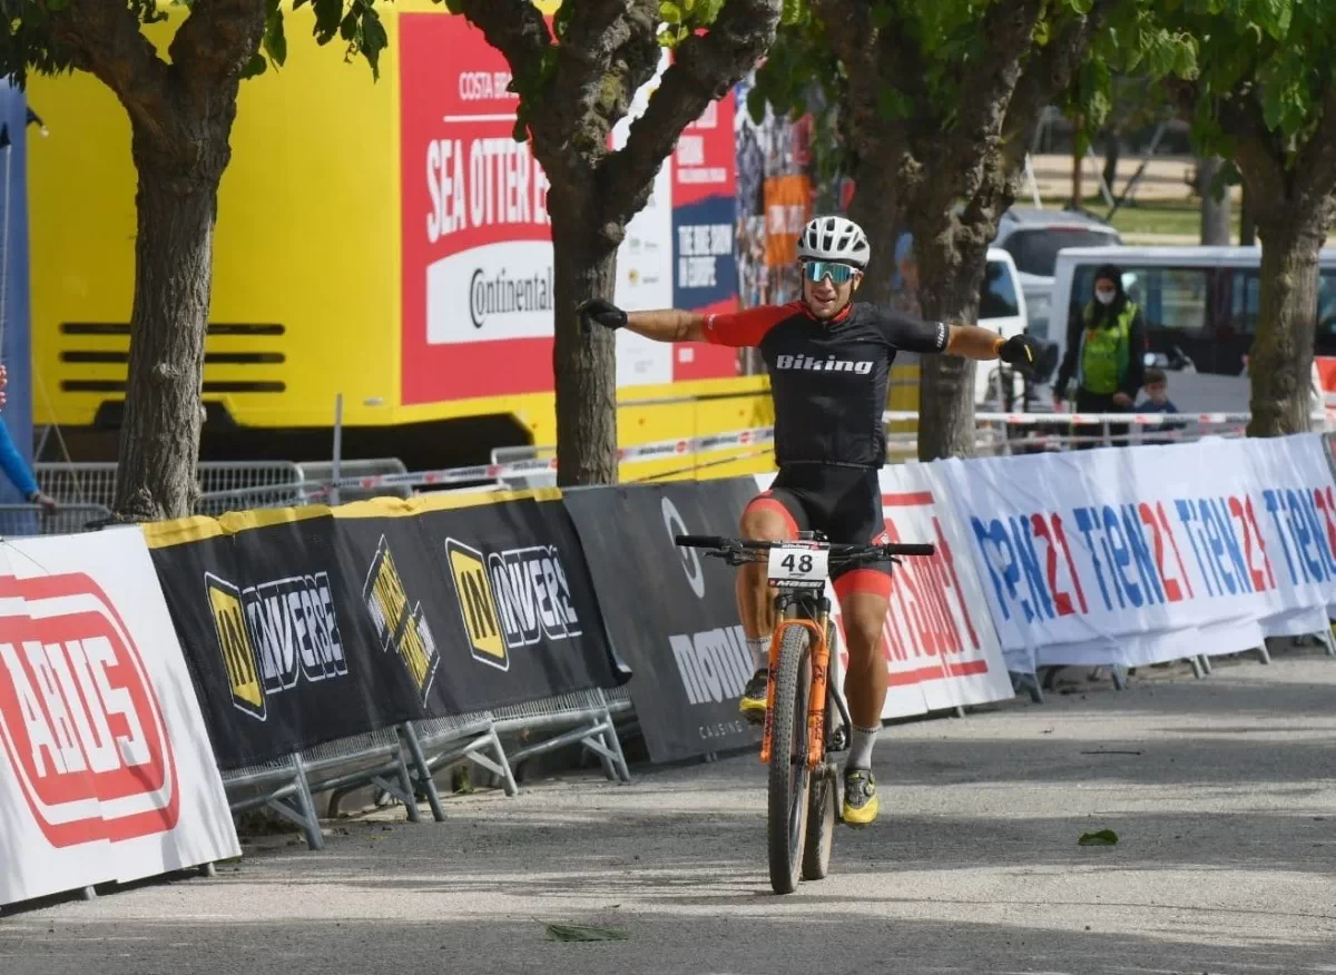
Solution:
{"label": "cyclist in black and red Biking jersey with arms outstretched", "polygon": [[[1033,366],[1038,347],[1026,335],[1010,339],[974,325],[925,322],[855,302],[871,247],[862,228],[843,216],[818,216],[802,232],[798,260],[802,301],[745,311],[625,313],[593,299],[582,319],[627,327],[661,342],[712,342],[762,350],[775,402],[775,459],[779,473],[743,512],[744,538],[782,541],[800,530],[823,532],[832,544],[867,544],[884,533],[878,469],[886,459],[886,407],[891,362],[899,350],[947,353]],[[848,674],[844,688],[854,740],[844,768],[844,820],[876,819],[872,745],[882,727],[887,673],[882,626],[891,592],[891,565],[835,570],[832,582],[844,617]],[[739,704],[747,720],[766,719],[766,684],[774,602],[766,566],[737,573],[737,608],[755,674]]]}

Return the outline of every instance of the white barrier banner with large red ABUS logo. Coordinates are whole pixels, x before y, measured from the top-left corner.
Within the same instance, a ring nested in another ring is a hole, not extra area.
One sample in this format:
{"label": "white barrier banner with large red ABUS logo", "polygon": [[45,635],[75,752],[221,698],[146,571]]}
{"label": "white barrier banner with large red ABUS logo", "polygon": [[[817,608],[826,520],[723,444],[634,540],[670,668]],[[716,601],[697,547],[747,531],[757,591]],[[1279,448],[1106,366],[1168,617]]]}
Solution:
{"label": "white barrier banner with large red ABUS logo", "polygon": [[143,536],[0,556],[0,903],[239,853]]}

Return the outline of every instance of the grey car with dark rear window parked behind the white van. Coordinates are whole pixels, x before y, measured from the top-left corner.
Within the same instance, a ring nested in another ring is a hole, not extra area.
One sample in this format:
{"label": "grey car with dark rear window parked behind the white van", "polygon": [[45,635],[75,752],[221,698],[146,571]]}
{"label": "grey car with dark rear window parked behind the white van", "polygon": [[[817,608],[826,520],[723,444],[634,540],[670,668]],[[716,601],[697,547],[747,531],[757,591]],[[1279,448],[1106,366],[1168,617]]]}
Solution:
{"label": "grey car with dark rear window parked behind the white van", "polygon": [[1039,341],[1061,341],[1049,330],[1058,251],[1063,247],[1113,247],[1121,243],[1118,231],[1090,214],[1011,207],[1002,215],[993,246],[1005,250],[1015,262],[1030,335]]}

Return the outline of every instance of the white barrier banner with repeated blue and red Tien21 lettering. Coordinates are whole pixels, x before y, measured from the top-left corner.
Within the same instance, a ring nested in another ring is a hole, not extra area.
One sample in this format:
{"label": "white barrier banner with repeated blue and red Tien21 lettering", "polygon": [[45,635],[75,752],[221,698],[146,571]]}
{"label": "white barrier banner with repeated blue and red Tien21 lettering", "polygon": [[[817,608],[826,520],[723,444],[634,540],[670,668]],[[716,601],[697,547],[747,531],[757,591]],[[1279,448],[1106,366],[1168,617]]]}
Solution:
{"label": "white barrier banner with repeated blue and red Tien21 lettering", "polygon": [[1144,665],[1325,628],[1336,486],[1320,434],[930,465],[1009,654]]}

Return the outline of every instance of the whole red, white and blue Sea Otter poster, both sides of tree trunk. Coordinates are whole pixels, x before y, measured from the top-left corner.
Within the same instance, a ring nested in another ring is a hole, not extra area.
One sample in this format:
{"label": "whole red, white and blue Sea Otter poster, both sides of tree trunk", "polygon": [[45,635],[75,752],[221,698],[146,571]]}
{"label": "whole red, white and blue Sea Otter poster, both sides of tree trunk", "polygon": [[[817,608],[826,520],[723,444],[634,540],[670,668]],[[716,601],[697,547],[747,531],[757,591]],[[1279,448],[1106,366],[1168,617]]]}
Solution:
{"label": "whole red, white and blue Sea Otter poster, both sides of tree trunk", "polygon": [[[548,180],[514,142],[505,57],[464,17],[402,13],[399,24],[402,402],[549,391]],[[637,96],[641,110],[653,87]],[[628,228],[617,292],[627,307],[737,307],[733,106],[729,93],[687,128],[664,162],[667,199]],[[619,385],[736,374],[731,349],[633,338],[619,337]]]}

